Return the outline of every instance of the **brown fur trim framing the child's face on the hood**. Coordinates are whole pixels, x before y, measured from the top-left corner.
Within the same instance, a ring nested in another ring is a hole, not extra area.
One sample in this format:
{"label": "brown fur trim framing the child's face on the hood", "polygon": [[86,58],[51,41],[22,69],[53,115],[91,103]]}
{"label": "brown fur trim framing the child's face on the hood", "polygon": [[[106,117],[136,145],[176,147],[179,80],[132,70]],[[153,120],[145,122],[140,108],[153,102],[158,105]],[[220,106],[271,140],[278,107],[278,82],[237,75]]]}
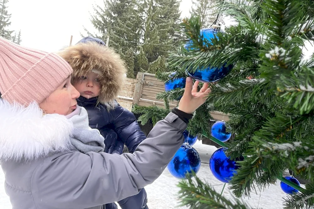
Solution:
{"label": "brown fur trim framing the child's face on the hood", "polygon": [[124,83],[126,68],[120,56],[113,49],[96,42],[78,43],[57,53],[73,68],[73,79],[98,70],[100,94],[98,102],[112,104],[117,99]]}

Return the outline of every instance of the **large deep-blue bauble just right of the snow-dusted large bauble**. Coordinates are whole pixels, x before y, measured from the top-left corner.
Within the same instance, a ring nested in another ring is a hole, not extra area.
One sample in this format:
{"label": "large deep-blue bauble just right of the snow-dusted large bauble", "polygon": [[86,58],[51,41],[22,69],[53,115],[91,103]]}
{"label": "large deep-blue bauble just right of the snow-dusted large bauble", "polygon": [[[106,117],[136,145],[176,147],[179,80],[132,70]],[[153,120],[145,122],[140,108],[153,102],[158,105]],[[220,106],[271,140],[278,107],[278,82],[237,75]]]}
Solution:
{"label": "large deep-blue bauble just right of the snow-dusted large bauble", "polygon": [[239,168],[236,165],[236,161],[242,161],[244,158],[241,157],[236,159],[236,161],[231,160],[225,155],[226,148],[217,149],[211,158],[209,159],[209,167],[213,175],[224,183],[229,183],[232,176],[236,174],[236,169]]}

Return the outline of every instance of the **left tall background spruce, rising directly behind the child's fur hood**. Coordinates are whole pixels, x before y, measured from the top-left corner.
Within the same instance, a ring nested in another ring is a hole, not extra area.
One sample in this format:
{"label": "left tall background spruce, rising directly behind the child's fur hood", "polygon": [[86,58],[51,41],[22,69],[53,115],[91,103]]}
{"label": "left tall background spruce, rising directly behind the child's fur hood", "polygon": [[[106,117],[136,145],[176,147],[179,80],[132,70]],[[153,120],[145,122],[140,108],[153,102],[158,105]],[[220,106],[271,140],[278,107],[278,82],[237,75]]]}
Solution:
{"label": "left tall background spruce, rising directly behind the child's fur hood", "polygon": [[109,46],[127,60],[128,77],[134,77],[130,72],[134,69],[134,55],[137,52],[142,29],[143,20],[139,8],[135,0],[104,0],[103,6],[94,6],[95,14],[91,17],[91,22],[100,36],[91,34],[85,29],[88,35],[102,40],[106,40],[107,36],[110,37]]}

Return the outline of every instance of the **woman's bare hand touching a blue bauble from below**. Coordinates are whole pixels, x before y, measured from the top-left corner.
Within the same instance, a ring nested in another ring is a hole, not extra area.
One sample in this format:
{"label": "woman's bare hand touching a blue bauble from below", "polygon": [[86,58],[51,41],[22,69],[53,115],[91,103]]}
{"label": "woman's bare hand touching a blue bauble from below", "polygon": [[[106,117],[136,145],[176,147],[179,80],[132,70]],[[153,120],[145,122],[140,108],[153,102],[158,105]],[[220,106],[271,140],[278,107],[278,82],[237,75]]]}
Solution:
{"label": "woman's bare hand touching a blue bauble from below", "polygon": [[207,83],[203,84],[201,90],[197,92],[198,83],[198,81],[195,81],[194,85],[192,85],[192,78],[187,77],[185,91],[179,102],[179,110],[192,114],[198,107],[204,104],[207,95],[210,93],[209,85]]}

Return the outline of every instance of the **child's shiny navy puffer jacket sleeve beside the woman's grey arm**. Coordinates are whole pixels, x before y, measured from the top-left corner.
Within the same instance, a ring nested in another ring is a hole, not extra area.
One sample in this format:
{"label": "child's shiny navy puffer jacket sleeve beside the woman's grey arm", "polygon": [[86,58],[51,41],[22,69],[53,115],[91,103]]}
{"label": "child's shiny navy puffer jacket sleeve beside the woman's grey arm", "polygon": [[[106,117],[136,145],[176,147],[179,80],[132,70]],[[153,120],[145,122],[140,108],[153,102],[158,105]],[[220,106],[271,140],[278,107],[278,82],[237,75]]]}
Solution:
{"label": "child's shiny navy puffer jacket sleeve beside the woman's grey arm", "polygon": [[[104,114],[108,112],[106,108],[103,111],[105,111]],[[139,127],[134,114],[119,104],[109,114],[110,123],[118,138],[127,146],[128,151],[133,153],[138,144],[146,139],[146,135]]]}

